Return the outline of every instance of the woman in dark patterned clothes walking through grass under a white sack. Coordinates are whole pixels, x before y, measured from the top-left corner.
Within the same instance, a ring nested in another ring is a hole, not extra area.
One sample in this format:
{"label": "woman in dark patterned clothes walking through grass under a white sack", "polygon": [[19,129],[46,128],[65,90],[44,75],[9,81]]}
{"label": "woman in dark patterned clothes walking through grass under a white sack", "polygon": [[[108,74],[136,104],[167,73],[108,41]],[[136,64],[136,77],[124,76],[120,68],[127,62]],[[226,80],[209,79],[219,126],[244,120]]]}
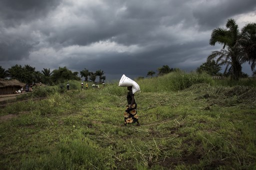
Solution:
{"label": "woman in dark patterned clothes walking through grass under a white sack", "polygon": [[127,123],[136,123],[137,126],[140,126],[138,122],[138,115],[137,115],[137,104],[134,99],[134,94],[132,94],[131,86],[127,87],[127,103],[126,110],[124,112],[124,126],[127,126]]}

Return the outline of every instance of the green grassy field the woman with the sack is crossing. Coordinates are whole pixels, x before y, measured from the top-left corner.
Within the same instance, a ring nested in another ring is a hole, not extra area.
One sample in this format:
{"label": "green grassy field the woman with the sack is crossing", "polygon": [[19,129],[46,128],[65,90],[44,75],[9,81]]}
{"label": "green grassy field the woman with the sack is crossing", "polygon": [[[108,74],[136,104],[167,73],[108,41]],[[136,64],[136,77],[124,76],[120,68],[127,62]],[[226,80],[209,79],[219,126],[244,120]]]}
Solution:
{"label": "green grassy field the woman with the sack is crossing", "polygon": [[2,103],[0,116],[12,117],[0,122],[0,169],[256,169],[255,81],[183,72],[137,80],[139,127],[123,126],[118,82],[40,87]]}

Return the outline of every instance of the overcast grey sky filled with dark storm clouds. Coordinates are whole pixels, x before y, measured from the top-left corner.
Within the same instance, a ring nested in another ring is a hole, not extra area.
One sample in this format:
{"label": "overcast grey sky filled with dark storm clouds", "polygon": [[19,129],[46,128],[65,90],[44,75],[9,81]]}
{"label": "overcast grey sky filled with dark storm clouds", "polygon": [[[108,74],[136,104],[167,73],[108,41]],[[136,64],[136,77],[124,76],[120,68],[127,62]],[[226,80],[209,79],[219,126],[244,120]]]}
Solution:
{"label": "overcast grey sky filled with dark storm clouds", "polygon": [[188,72],[220,49],[210,34],[229,18],[256,22],[256,0],[0,0],[0,66],[101,69],[106,80]]}

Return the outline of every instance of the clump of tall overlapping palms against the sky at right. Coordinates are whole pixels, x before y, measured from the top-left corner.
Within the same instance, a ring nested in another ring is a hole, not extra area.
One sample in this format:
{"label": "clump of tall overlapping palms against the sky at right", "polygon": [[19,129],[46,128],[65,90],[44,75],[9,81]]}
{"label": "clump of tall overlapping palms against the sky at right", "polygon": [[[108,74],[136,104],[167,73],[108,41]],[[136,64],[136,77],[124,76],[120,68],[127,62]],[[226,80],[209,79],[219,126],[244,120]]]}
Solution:
{"label": "clump of tall overlapping palms against the sky at right", "polygon": [[223,47],[219,51],[213,51],[208,56],[208,59],[211,60],[218,57],[217,63],[226,65],[224,74],[229,72],[231,79],[238,80],[242,74],[242,63],[249,61],[252,62],[251,68],[255,67],[255,33],[255,23],[246,25],[240,32],[235,20],[228,19],[226,29],[215,28],[212,30],[209,44],[215,45],[215,43],[219,43]]}

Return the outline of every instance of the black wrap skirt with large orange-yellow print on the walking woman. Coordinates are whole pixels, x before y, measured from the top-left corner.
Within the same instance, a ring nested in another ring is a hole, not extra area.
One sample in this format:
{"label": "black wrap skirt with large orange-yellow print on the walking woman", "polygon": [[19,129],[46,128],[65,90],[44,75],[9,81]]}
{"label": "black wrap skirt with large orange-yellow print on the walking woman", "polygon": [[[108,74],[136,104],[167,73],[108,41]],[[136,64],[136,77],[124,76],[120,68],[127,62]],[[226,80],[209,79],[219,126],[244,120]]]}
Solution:
{"label": "black wrap skirt with large orange-yellow print on the walking woman", "polygon": [[129,108],[129,105],[127,105],[126,110],[124,112],[124,124],[135,123],[137,122],[137,120],[137,104],[133,104],[131,108]]}

